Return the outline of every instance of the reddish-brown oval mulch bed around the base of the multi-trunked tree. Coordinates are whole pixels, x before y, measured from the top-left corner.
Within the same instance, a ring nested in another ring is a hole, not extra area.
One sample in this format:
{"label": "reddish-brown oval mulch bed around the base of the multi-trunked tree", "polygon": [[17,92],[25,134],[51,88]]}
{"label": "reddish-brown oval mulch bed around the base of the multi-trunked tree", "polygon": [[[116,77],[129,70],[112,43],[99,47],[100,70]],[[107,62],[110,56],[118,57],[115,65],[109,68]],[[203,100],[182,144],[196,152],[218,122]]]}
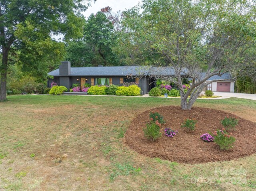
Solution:
{"label": "reddish-brown oval mulch bed around the base of the multi-trunked tree", "polygon": [[[166,124],[161,127],[162,137],[156,142],[151,142],[144,137],[142,128],[150,122],[149,113],[159,112],[164,116]],[[238,117],[236,131],[232,134],[236,138],[234,148],[222,151],[214,142],[204,142],[200,135],[222,129],[222,119],[235,117],[234,114],[210,108],[193,107],[191,110],[182,110],[179,106],[164,106],[145,111],[132,121],[126,131],[125,142],[140,154],[149,157],[158,157],[180,163],[205,163],[223,161],[256,153],[256,123]],[[196,130],[192,133],[185,132],[180,127],[186,118],[195,118]],[[173,138],[164,136],[164,128],[178,130]]]}

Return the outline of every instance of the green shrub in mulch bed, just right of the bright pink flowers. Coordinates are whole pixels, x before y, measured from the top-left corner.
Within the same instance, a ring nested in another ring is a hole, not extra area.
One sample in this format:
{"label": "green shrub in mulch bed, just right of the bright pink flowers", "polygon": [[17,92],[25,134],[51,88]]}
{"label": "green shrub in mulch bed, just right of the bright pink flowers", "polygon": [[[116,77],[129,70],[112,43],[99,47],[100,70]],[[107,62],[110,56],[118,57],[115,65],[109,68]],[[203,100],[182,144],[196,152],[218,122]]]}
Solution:
{"label": "green shrub in mulch bed, just right of the bright pink flowers", "polygon": [[213,135],[213,141],[219,146],[220,150],[229,150],[234,147],[236,139],[227,134],[225,131],[217,130],[214,131]]}

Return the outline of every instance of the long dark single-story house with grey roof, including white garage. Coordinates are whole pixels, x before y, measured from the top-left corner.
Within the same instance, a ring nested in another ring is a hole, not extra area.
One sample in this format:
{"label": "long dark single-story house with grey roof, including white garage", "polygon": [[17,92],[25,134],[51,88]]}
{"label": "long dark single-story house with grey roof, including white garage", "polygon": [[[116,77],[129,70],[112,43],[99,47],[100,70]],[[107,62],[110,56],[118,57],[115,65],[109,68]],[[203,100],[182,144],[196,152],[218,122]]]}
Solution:
{"label": "long dark single-story house with grey roof, including white garage", "polygon": [[[63,61],[59,69],[51,71],[53,79],[48,79],[48,87],[51,87],[52,81],[60,86],[70,88],[74,83],[79,83],[80,87],[85,83],[90,85],[122,85],[124,82],[135,82],[138,84],[143,94],[148,93],[155,87],[155,79],[152,75],[174,75],[174,70],[170,67],[141,67],[141,66],[106,66],[98,67],[71,67],[69,61]],[[186,76],[186,74],[183,74]],[[204,73],[202,73],[204,76]],[[212,76],[208,79],[232,79],[230,73],[220,76]],[[208,90],[234,92],[234,81],[212,82],[206,87]]]}

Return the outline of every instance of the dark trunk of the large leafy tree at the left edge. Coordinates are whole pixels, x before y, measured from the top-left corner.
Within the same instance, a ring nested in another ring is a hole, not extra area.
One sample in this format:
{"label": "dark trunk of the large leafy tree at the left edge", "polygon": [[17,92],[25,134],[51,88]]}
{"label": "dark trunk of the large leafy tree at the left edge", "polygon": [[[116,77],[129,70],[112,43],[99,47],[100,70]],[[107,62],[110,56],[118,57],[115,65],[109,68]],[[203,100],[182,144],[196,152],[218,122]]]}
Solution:
{"label": "dark trunk of the large leafy tree at the left edge", "polygon": [[0,67],[0,102],[6,100],[6,79],[7,79],[8,50],[3,47],[2,64]]}

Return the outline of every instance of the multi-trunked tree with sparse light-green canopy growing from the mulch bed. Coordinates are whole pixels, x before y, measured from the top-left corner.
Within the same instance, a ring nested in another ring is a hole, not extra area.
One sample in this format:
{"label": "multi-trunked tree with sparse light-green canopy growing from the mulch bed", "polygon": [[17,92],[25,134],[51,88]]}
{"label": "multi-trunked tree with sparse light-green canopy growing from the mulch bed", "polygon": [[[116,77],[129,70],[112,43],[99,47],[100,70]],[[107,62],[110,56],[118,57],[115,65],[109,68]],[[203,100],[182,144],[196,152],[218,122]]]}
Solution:
{"label": "multi-trunked tree with sparse light-green canopy growing from the mulch bed", "polygon": [[[164,62],[152,65],[174,69],[172,76],[162,68],[152,77],[175,83],[181,108],[191,109],[202,90],[217,81],[207,81],[210,77],[238,71],[255,75],[255,13],[255,0],[143,0],[124,12],[122,24],[133,36],[131,43],[159,53]],[[191,79],[187,92],[182,78]]]}

